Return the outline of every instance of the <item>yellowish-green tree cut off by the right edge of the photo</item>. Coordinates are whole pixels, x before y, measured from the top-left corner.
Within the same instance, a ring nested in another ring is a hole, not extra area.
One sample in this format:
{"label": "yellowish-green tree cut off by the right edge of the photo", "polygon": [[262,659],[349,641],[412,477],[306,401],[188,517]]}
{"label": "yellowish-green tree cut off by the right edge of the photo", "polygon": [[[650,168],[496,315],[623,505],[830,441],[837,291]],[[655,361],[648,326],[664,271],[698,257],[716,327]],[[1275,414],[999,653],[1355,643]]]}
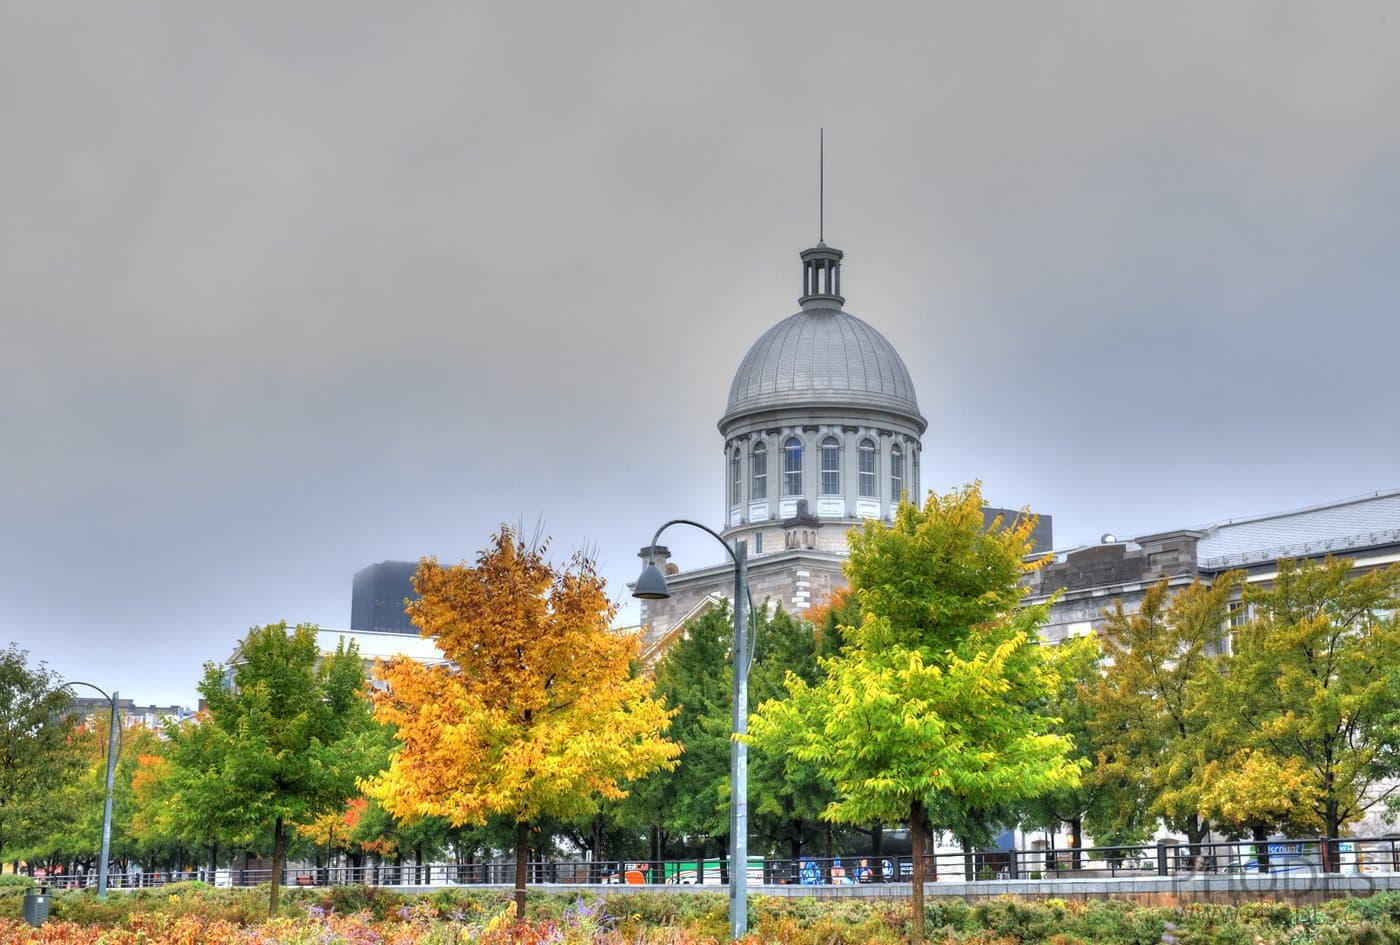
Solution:
{"label": "yellowish-green tree cut off by the right edge of the photo", "polygon": [[[1235,633],[1228,711],[1250,748],[1296,776],[1295,797],[1336,839],[1400,777],[1400,566],[1355,574],[1345,559],[1281,560],[1245,601],[1253,619]],[[1259,806],[1277,806],[1277,783],[1256,783],[1267,788]]]}

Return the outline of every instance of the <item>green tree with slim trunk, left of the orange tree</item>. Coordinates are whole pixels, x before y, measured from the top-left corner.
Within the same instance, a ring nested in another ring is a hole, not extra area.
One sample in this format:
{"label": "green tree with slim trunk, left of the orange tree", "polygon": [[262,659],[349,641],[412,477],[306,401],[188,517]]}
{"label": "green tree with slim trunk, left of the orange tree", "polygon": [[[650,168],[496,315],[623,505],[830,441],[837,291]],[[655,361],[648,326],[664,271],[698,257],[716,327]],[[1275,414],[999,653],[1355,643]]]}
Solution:
{"label": "green tree with slim trunk, left of the orange tree", "polygon": [[316,629],[255,627],[230,668],[206,664],[206,710],[171,732],[172,801],[188,829],[269,837],[276,914],[290,827],[340,809],[371,774],[364,671],[353,644],[316,647]]}

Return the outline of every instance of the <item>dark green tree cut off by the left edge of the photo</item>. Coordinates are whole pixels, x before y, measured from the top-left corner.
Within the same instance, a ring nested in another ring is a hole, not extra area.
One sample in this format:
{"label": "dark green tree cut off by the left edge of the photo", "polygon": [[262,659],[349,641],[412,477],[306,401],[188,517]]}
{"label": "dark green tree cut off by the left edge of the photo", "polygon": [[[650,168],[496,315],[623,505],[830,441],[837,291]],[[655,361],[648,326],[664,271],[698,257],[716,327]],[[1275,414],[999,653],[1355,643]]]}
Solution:
{"label": "dark green tree cut off by the left edge of the photo", "polygon": [[63,680],[15,645],[0,650],[0,857],[39,839],[50,792],[80,774],[84,753]]}

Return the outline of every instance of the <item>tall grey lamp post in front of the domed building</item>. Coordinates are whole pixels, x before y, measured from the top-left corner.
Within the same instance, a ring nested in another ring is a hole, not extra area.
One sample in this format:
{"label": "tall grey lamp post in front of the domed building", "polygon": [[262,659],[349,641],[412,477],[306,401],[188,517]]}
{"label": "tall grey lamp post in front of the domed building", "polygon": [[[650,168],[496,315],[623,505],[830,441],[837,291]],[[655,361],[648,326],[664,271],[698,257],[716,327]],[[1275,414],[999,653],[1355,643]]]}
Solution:
{"label": "tall grey lamp post in front of the domed building", "polygon": [[[749,731],[749,664],[753,662],[753,641],[749,637],[749,553],[748,545],[735,540],[731,547],[718,532],[687,518],[673,518],[651,536],[650,549],[657,547],[661,533],[672,525],[690,525],[724,545],[734,560],[734,735],[729,739],[729,935],[735,941],[749,930],[749,746],[743,736]],[[648,554],[631,595],[643,601],[664,601],[671,596],[666,577]]]}

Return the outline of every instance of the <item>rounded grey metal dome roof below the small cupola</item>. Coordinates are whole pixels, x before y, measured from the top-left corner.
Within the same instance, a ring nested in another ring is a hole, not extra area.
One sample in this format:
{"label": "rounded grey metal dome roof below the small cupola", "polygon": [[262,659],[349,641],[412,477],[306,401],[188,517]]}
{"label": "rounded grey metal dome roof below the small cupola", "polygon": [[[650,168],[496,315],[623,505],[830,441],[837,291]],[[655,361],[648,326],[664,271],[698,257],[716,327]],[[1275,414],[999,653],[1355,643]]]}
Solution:
{"label": "rounded grey metal dome roof below the small cupola", "polygon": [[883,335],[847,312],[808,308],[759,337],[743,356],[724,421],[769,407],[879,407],[925,421],[904,361]]}

